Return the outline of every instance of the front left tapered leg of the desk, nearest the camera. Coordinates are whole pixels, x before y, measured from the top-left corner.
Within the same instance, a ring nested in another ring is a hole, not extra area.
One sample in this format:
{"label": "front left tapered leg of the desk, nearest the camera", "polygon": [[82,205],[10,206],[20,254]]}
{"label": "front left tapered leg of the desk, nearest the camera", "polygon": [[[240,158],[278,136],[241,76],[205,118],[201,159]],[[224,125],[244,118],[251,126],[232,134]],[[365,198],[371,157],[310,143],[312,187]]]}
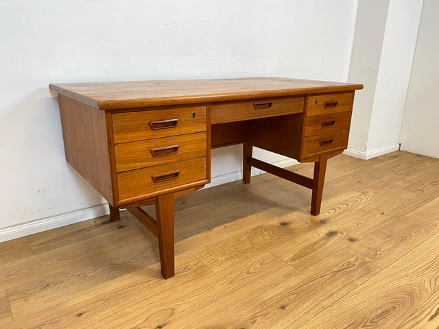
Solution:
{"label": "front left tapered leg of the desk, nearest the camera", "polygon": [[165,279],[175,275],[174,269],[174,193],[157,197],[156,218],[158,248],[162,276]]}

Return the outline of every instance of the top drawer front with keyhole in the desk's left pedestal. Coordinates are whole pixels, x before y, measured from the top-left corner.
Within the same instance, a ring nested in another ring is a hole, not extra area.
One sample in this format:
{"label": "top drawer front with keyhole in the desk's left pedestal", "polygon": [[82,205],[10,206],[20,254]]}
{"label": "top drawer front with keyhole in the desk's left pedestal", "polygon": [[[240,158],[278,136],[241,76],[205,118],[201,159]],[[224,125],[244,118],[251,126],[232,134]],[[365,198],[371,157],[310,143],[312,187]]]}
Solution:
{"label": "top drawer front with keyhole in the desk's left pedestal", "polygon": [[115,143],[206,131],[206,106],[112,114]]}

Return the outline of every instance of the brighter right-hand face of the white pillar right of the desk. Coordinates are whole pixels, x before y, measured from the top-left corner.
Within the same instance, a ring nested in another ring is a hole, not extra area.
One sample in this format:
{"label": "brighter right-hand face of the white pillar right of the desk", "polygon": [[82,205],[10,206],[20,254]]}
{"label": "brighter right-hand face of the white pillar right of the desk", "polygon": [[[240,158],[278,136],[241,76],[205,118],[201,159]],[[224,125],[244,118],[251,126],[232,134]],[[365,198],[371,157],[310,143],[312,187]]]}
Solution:
{"label": "brighter right-hand face of the white pillar right of the desk", "polygon": [[390,0],[366,154],[399,149],[423,0]]}

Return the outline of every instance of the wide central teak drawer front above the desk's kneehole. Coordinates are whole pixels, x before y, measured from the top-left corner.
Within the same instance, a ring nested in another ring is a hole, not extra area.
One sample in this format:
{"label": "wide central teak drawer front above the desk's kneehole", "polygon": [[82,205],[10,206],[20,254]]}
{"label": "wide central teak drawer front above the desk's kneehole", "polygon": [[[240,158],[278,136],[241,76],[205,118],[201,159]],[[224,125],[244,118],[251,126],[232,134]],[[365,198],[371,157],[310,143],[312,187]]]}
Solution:
{"label": "wide central teak drawer front above the desk's kneehole", "polygon": [[244,101],[220,101],[212,103],[211,122],[226,123],[279,115],[301,113],[305,96],[275,97]]}

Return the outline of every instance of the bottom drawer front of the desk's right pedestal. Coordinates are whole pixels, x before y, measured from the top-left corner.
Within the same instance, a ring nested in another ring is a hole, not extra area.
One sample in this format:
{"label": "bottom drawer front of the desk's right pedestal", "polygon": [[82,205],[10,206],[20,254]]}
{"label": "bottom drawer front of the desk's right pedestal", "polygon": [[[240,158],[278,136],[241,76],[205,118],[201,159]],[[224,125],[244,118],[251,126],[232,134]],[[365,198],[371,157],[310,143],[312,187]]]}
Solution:
{"label": "bottom drawer front of the desk's right pedestal", "polygon": [[347,145],[348,130],[308,136],[303,141],[302,158],[316,156],[333,149],[346,148]]}

